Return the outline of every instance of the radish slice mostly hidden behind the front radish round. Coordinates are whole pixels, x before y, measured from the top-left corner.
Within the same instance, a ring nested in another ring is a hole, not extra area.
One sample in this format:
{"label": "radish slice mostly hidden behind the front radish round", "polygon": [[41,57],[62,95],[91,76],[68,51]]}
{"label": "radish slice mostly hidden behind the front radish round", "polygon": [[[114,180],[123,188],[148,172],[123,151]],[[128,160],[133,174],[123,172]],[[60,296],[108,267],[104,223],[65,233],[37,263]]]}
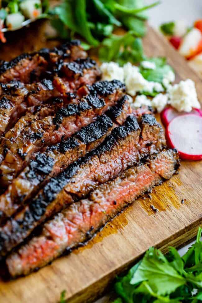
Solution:
{"label": "radish slice mostly hidden behind the front radish round", "polygon": [[[167,126],[172,119],[174,119],[177,116],[182,116],[185,114],[187,114],[187,112],[178,112],[176,109],[172,107],[167,107],[164,108],[164,110],[161,112],[161,121],[164,126]],[[199,108],[193,108],[189,114],[194,114],[196,116],[202,117],[202,110]]]}

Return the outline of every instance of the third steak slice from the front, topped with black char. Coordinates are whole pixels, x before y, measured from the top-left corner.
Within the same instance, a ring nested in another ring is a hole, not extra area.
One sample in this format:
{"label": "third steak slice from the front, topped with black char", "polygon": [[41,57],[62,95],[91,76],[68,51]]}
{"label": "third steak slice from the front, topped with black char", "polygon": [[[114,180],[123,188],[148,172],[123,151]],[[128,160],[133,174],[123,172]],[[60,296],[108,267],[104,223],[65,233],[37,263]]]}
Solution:
{"label": "third steak slice from the front, topped with black char", "polygon": [[113,126],[109,117],[99,116],[73,137],[62,139],[60,143],[46,148],[43,153],[38,153],[0,196],[1,220],[25,205],[51,177],[96,148],[110,134]]}

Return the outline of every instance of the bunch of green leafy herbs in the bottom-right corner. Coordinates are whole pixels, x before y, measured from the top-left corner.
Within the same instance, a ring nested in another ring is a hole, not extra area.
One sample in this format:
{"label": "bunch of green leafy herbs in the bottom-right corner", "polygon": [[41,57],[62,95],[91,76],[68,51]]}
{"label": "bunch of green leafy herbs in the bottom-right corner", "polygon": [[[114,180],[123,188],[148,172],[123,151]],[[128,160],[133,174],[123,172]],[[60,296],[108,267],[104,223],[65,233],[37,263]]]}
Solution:
{"label": "bunch of green leafy herbs in the bottom-right corner", "polygon": [[117,278],[114,289],[118,298],[114,303],[201,302],[201,233],[199,228],[196,243],[182,257],[173,247],[167,255],[151,247],[125,276]]}

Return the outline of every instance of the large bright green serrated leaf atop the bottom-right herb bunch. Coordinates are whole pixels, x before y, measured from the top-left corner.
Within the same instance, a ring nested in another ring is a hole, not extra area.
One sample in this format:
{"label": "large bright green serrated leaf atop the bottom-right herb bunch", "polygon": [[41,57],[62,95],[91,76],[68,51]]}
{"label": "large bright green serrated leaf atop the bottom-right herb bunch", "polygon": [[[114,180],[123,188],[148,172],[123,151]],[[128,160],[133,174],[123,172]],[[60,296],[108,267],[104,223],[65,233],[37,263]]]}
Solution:
{"label": "large bright green serrated leaf atop the bottom-right herb bunch", "polygon": [[158,295],[170,294],[186,283],[186,279],[179,275],[164,255],[155,248],[146,252],[130,283],[143,281],[148,281],[149,287]]}

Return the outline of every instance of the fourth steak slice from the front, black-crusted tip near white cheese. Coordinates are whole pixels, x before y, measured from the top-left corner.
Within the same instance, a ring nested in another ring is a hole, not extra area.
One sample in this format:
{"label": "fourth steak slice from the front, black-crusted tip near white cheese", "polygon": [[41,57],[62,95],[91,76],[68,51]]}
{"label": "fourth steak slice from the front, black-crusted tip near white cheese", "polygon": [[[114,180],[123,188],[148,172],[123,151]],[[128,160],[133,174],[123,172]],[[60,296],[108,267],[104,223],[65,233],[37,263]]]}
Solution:
{"label": "fourth steak slice from the front, black-crusted tip near white cheese", "polygon": [[25,127],[0,165],[2,189],[25,167],[34,152],[46,145],[59,143],[62,136],[70,137],[81,127],[95,121],[97,116],[117,102],[125,86],[117,80],[100,81],[88,86],[88,90],[90,94],[79,104],[69,104],[59,109],[55,117],[48,116]]}

